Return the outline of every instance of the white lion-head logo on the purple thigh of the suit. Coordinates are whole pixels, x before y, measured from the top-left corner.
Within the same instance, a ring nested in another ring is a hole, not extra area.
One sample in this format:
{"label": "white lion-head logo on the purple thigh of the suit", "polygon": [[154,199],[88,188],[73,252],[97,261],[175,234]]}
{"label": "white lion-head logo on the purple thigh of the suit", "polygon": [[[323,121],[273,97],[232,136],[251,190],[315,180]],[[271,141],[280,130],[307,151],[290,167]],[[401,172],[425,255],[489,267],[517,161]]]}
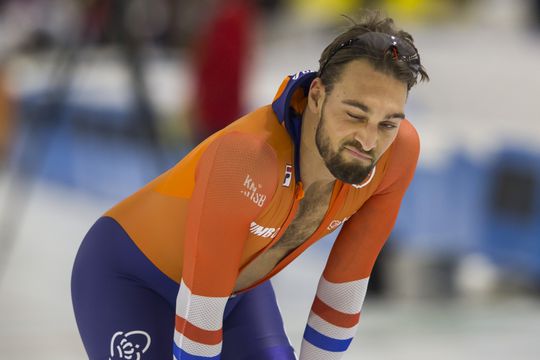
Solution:
{"label": "white lion-head logo on the purple thigh of the suit", "polygon": [[116,332],[111,339],[111,357],[109,360],[141,360],[150,347],[150,335],[142,330],[130,331],[124,334]]}

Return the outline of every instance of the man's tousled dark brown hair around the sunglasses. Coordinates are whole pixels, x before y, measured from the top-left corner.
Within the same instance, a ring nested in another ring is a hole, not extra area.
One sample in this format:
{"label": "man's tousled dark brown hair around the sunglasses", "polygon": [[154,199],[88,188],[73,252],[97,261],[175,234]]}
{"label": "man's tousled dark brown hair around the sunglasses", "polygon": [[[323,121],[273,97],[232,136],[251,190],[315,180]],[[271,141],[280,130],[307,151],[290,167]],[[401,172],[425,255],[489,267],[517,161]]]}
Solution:
{"label": "man's tousled dark brown hair around the sunglasses", "polygon": [[356,59],[367,59],[376,70],[392,75],[406,83],[409,90],[418,80],[429,81],[426,70],[420,65],[419,56],[416,57],[417,66],[412,68],[409,62],[403,61],[395,52],[391,51],[391,47],[381,49],[380,46],[377,47],[369,41],[362,42],[360,46],[354,46],[354,41],[364,34],[382,33],[387,34],[388,39],[397,38],[396,41],[409,48],[412,47],[417,53],[412,36],[403,30],[396,29],[392,18],[386,17],[379,11],[365,11],[359,22],[347,18],[353,25],[336,37],[324,49],[319,59],[318,75],[327,92],[332,91],[334,83],[339,80],[343,67]]}

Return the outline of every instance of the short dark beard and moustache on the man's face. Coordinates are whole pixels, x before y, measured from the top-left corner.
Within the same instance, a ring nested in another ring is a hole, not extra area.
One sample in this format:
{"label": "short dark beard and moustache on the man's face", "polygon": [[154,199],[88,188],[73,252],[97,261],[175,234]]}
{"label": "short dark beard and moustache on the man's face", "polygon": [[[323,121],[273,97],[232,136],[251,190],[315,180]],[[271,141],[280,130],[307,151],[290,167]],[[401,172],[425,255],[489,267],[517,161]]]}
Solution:
{"label": "short dark beard and moustache on the man's face", "polygon": [[324,116],[324,104],[321,109],[321,119],[319,125],[317,126],[317,132],[315,134],[315,143],[317,144],[317,149],[321,155],[326,167],[330,173],[338,180],[343,181],[348,184],[360,184],[362,183],[370,174],[371,170],[375,166],[375,161],[372,160],[369,165],[362,165],[359,161],[348,161],[343,152],[346,150],[345,146],[352,147],[357,151],[371,156],[372,159],[375,158],[374,154],[369,151],[362,150],[362,145],[358,141],[350,140],[344,142],[339,146],[337,151],[332,148],[330,137],[328,136],[328,131],[326,130],[326,119]]}

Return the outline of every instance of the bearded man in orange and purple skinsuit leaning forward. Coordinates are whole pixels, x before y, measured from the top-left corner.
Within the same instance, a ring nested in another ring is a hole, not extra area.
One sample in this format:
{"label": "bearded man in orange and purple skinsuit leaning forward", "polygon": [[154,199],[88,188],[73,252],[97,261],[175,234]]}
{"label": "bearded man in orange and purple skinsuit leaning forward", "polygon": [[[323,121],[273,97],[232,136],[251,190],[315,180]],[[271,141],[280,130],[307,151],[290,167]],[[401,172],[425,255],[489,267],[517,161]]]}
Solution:
{"label": "bearded man in orange and purple skinsuit leaning forward", "polygon": [[90,358],[295,359],[268,280],[343,224],[299,354],[341,358],[418,159],[403,113],[418,79],[411,36],[367,15],[318,73],[109,210],[73,270]]}

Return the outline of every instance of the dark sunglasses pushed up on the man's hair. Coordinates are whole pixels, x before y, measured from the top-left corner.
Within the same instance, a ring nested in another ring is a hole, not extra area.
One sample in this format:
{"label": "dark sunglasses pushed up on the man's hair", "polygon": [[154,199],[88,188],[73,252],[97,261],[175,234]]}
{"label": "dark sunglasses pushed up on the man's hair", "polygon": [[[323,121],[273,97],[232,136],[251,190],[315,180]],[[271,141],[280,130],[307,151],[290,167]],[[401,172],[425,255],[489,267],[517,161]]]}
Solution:
{"label": "dark sunglasses pushed up on the man's hair", "polygon": [[339,44],[328,56],[326,61],[322,64],[319,70],[319,77],[324,72],[324,69],[330,62],[330,60],[339,51],[345,48],[358,48],[366,49],[366,55],[373,56],[372,53],[367,53],[367,49],[380,50],[381,58],[388,52],[391,52],[395,61],[404,61],[408,64],[409,68],[413,72],[414,77],[418,75],[420,71],[420,56],[416,48],[403,39],[397,36],[380,33],[380,32],[367,32],[353,39],[349,39],[346,42]]}

